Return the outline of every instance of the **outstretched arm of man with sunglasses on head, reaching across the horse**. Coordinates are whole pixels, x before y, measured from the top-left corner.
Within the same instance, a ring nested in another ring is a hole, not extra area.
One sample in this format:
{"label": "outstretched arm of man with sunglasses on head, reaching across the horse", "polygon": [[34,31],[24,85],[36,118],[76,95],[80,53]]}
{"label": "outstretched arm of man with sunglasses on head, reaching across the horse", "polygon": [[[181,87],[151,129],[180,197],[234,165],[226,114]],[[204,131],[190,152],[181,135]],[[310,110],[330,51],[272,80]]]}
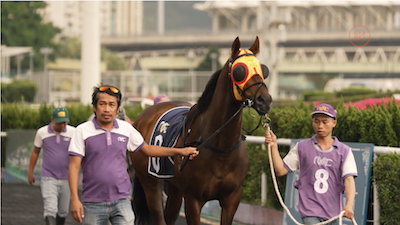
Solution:
{"label": "outstretched arm of man with sunglasses on head, reaching across the horse", "polygon": [[140,148],[140,150],[152,157],[163,157],[163,156],[174,156],[174,155],[190,155],[190,159],[193,159],[196,157],[199,152],[196,150],[196,148],[193,147],[187,147],[187,148],[167,148],[167,147],[161,147],[157,145],[148,145],[146,142],[144,142],[143,146]]}

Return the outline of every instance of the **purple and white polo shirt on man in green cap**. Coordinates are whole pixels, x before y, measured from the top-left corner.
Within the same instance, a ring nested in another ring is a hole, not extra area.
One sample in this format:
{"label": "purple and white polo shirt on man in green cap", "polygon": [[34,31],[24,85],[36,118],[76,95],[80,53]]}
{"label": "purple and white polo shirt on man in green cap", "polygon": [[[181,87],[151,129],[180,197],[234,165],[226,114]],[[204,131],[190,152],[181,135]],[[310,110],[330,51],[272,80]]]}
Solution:
{"label": "purple and white polo shirt on man in green cap", "polygon": [[39,128],[33,145],[43,148],[42,177],[68,179],[69,155],[68,146],[75,127],[67,125],[61,133],[51,129],[51,123]]}

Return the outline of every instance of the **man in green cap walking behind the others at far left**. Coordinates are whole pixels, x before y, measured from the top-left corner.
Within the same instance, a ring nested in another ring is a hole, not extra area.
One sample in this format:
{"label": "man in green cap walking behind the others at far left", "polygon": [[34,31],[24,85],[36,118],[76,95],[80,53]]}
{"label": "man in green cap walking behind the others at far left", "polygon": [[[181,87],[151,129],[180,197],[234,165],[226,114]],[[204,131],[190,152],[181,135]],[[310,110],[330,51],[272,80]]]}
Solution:
{"label": "man in green cap walking behind the others at far left", "polygon": [[75,127],[69,126],[68,110],[54,109],[51,123],[41,127],[35,136],[29,162],[28,182],[33,185],[33,169],[43,148],[41,190],[43,217],[47,225],[63,225],[69,212],[70,190],[68,186],[68,146]]}

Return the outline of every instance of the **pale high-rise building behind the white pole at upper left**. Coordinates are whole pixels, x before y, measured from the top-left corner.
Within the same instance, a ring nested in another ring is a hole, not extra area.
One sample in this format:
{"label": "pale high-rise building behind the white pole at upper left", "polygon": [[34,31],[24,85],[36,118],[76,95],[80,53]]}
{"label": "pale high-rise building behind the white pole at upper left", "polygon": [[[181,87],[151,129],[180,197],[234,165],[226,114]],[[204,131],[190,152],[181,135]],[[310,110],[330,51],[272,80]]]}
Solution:
{"label": "pale high-rise building behind the white pole at upper left", "polygon": [[[82,2],[46,1],[41,11],[44,21],[61,28],[62,36],[80,37]],[[143,32],[142,1],[100,1],[101,36],[136,36]]]}

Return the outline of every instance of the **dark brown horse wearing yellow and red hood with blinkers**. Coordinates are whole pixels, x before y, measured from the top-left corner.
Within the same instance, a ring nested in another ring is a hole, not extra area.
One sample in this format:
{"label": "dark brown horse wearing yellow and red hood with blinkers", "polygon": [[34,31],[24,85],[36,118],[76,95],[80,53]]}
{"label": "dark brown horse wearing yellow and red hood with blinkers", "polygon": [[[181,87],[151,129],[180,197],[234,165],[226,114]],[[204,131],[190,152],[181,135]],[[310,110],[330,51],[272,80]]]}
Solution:
{"label": "dark brown horse wearing yellow and red hood with blinkers", "polygon": [[[264,115],[272,103],[264,83],[268,68],[255,57],[258,52],[258,37],[249,50],[241,49],[236,38],[230,59],[212,75],[197,104],[186,113],[184,130],[176,146],[197,146],[200,154],[190,161],[186,157],[173,158],[175,177],[167,180],[165,210],[163,180],[147,172],[148,156],[140,151],[131,153],[136,171],[133,199],[136,224],[174,224],[183,198],[187,224],[200,224],[201,208],[210,200],[218,200],[222,207],[221,224],[232,224],[248,167],[241,134],[242,108],[251,106]],[[151,106],[135,120],[134,126],[149,143],[158,118],[178,106],[190,104],[172,101]]]}

